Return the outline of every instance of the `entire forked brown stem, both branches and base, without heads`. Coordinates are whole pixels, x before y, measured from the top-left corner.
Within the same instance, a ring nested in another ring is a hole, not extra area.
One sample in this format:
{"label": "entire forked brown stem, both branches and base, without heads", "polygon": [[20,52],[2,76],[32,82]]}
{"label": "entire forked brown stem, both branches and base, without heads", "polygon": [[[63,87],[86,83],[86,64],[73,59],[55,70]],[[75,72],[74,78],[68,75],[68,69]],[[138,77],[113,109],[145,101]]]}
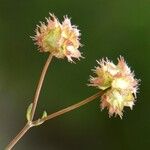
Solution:
{"label": "entire forked brown stem, both branches and base, without heads", "polygon": [[39,99],[39,95],[40,95],[40,91],[41,91],[41,88],[42,88],[42,85],[43,85],[43,81],[44,81],[44,78],[45,78],[45,75],[46,75],[46,72],[47,72],[47,69],[48,69],[48,66],[50,64],[52,60],[52,55],[50,54],[45,65],[44,65],[44,68],[42,70],[42,73],[41,73],[41,76],[40,76],[40,80],[38,82],[38,86],[37,86],[37,89],[36,89],[36,92],[35,92],[35,96],[34,96],[34,100],[33,100],[33,106],[32,106],[32,110],[31,110],[31,120],[30,122],[28,122],[24,128],[18,133],[18,135],[8,144],[8,146],[6,147],[5,150],[11,150],[15,144],[25,135],[25,133],[33,126],[37,126],[37,125],[40,125],[42,123],[44,123],[45,121],[47,120],[50,120],[52,118],[55,118],[57,116],[60,116],[60,115],[63,115],[69,111],[72,111],[78,107],[81,107],[91,101],[93,101],[94,99],[96,99],[97,97],[101,96],[105,91],[100,91],[86,99],[84,99],[83,101],[80,101],[74,105],[71,105],[67,108],[64,108],[60,111],[57,111],[55,113],[52,113],[50,115],[48,115],[47,117],[44,117],[44,118],[41,118],[41,119],[38,119],[38,120],[35,120],[33,121],[33,118],[34,118],[34,114],[35,114],[35,110],[36,110],[36,106],[37,106],[37,102],[38,102],[38,99]]}

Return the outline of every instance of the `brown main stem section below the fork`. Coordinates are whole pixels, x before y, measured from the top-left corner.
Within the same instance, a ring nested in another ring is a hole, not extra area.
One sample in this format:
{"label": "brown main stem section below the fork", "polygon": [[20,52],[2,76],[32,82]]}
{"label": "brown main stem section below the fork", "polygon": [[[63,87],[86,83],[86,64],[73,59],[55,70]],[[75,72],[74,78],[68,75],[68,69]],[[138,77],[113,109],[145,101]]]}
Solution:
{"label": "brown main stem section below the fork", "polygon": [[7,145],[5,150],[11,150],[14,145],[25,135],[25,133],[31,128],[31,125],[27,123],[24,128],[17,134],[17,136]]}

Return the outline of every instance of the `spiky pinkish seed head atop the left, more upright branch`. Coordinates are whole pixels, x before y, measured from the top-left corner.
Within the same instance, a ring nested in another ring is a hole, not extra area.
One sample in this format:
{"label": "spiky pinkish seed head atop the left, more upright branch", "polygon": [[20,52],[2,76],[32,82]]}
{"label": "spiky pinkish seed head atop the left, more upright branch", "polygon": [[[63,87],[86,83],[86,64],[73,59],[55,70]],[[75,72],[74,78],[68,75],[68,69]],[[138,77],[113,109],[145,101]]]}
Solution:
{"label": "spiky pinkish seed head atop the left, more upright branch", "polygon": [[71,25],[67,17],[64,17],[64,21],[60,23],[50,14],[50,18],[46,20],[46,24],[41,23],[41,26],[37,26],[34,37],[40,52],[50,52],[57,58],[66,57],[69,62],[74,62],[72,58],[80,59],[82,57],[78,50],[81,45],[80,33],[77,27]]}

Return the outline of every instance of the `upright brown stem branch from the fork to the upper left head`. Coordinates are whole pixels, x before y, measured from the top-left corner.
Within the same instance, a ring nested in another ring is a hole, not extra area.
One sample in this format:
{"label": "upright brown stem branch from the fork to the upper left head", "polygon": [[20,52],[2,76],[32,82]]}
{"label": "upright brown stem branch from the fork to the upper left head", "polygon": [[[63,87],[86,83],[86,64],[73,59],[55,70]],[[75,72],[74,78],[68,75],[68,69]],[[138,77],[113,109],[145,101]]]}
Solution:
{"label": "upright brown stem branch from the fork to the upper left head", "polygon": [[38,102],[38,99],[39,99],[39,95],[40,95],[40,92],[41,92],[41,88],[42,88],[42,85],[43,85],[43,81],[44,81],[48,66],[49,66],[52,58],[53,58],[53,55],[49,54],[49,57],[47,58],[47,61],[44,65],[44,67],[43,67],[43,70],[42,70],[42,73],[41,73],[41,76],[40,76],[40,79],[39,79],[39,82],[38,82],[38,86],[36,88],[35,96],[34,96],[34,99],[33,99],[33,106],[32,106],[32,110],[31,110],[31,121],[34,118],[34,114],[35,114],[37,102]]}

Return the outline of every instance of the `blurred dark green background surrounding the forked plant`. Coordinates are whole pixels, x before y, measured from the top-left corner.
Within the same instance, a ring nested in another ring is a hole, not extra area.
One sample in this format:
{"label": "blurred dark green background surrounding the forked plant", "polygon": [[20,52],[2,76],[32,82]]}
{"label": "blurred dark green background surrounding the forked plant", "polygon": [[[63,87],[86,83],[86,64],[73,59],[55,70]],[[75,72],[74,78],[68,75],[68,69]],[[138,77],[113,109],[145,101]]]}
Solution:
{"label": "blurred dark green background surrounding the forked plant", "polygon": [[77,64],[53,59],[41,92],[36,117],[91,96],[87,87],[96,60],[115,63],[125,57],[140,90],[133,111],[108,118],[99,99],[30,130],[15,150],[141,150],[150,147],[150,1],[149,0],[0,0],[0,149],[25,124],[41,68],[48,54],[39,53],[29,36],[49,12],[63,15],[81,30]]}

